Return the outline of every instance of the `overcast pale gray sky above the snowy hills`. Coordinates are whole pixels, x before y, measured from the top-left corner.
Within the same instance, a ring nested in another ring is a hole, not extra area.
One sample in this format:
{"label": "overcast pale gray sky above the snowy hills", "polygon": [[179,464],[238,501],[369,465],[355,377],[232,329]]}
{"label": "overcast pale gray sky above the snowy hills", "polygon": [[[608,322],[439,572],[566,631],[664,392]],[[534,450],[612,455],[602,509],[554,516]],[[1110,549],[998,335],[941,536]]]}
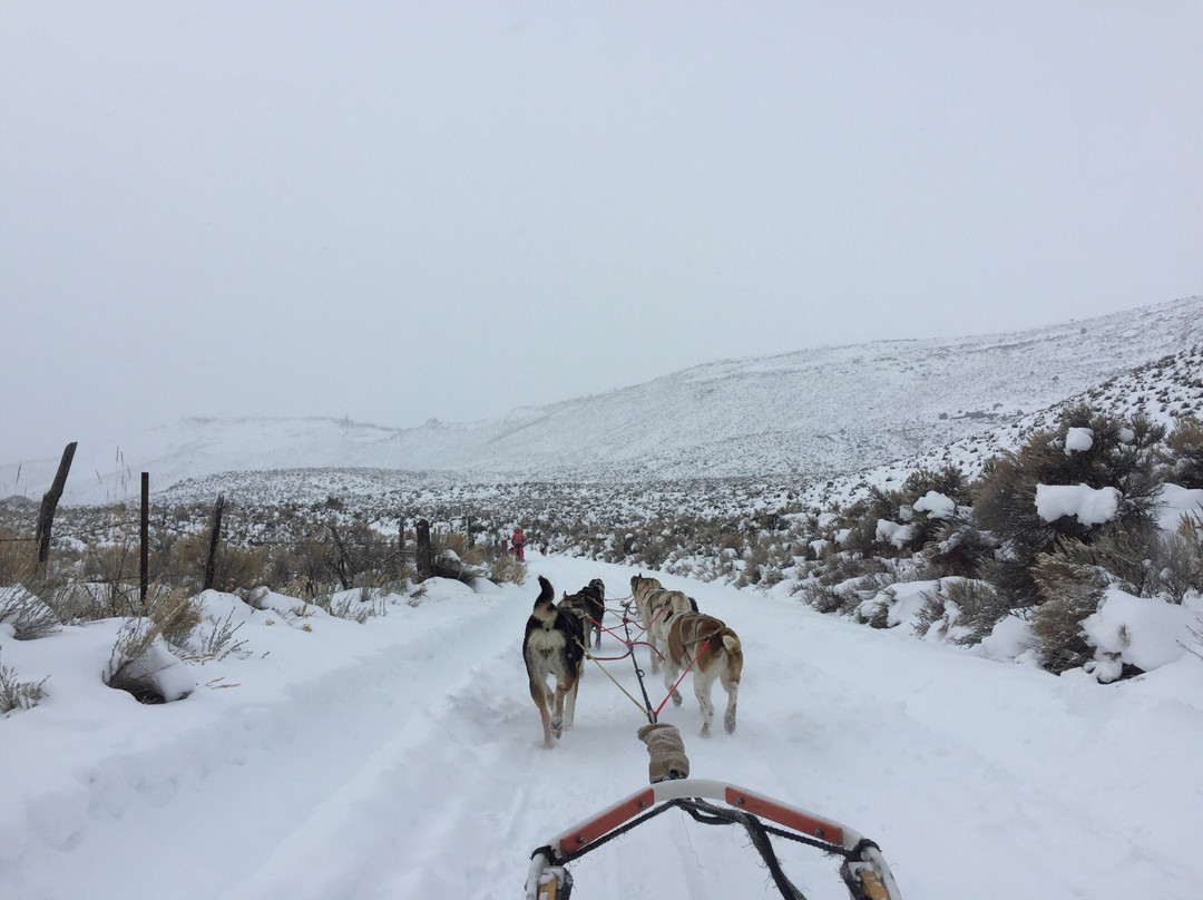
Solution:
{"label": "overcast pale gray sky above the snowy hills", "polygon": [[0,462],[1201,294],[1201,47],[1198,0],[0,0]]}

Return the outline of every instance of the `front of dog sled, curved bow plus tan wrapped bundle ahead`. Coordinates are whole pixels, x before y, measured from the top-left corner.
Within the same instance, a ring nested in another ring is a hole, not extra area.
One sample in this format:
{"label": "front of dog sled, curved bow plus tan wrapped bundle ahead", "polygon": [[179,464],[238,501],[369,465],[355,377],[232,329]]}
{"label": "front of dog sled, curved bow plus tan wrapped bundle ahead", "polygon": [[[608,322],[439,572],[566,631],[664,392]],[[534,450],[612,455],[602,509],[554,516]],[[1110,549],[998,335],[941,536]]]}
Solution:
{"label": "front of dog sled, curved bow plus tan wrapped bundle ahead", "polygon": [[[671,809],[712,825],[742,825],[786,900],[805,900],[789,881],[772,839],[790,840],[838,858],[852,900],[901,900],[879,847],[858,831],[790,804],[721,781],[689,777],[677,729],[652,723],[639,729],[651,756],[650,787],[561,831],[531,854],[527,900],[569,900],[568,865]],[[774,824],[766,824],[765,819]]]}

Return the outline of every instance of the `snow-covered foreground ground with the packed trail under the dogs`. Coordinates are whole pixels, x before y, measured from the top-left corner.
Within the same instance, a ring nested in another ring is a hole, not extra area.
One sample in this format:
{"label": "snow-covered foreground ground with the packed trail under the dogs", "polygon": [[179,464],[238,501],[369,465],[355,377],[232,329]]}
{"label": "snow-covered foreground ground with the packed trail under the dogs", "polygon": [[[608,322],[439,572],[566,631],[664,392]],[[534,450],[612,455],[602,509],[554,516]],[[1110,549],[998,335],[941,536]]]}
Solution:
{"label": "snow-covered foreground ground with the packed trail under the dogs", "polygon": [[[522,587],[429,582],[363,624],[211,593],[242,651],[177,673],[197,688],[159,706],[101,683],[113,623],[35,641],[0,626],[0,663],[49,675],[0,720],[0,898],[520,896],[535,847],[647,783],[646,720],[593,665],[576,728],[540,746],[520,651],[535,575],[623,597],[635,573],[529,564]],[[663,581],[745,646],[734,735],[698,736],[689,691],[663,714],[694,777],[855,828],[915,900],[1203,896],[1198,656],[1103,686]],[[629,661],[608,665],[638,695]],[[835,861],[780,849],[808,898],[846,896]],[[742,833],[675,811],[571,870],[582,899],[776,895]]]}

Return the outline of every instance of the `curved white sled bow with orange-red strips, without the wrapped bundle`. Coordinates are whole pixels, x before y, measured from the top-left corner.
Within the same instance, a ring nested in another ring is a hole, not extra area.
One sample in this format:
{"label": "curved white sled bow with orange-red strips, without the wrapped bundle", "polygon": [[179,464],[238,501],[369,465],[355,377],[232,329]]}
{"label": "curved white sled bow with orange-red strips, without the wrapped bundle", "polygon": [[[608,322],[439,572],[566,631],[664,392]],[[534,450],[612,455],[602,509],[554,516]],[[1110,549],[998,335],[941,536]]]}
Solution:
{"label": "curved white sled bow with orange-red strips, without the wrapped bundle", "polygon": [[[863,895],[873,900],[901,900],[902,898],[894,881],[894,875],[890,872],[890,868],[887,865],[881,851],[872,842],[865,842],[864,835],[859,831],[796,806],[758,794],[754,791],[747,791],[722,781],[704,778],[660,781],[641,791],[636,791],[630,797],[620,800],[598,815],[585,819],[567,831],[562,831],[544,846],[551,847],[556,854],[567,855],[585,849],[614,829],[635,818],[635,816],[647,812],[659,803],[688,798],[721,800],[729,806],[749,812],[758,818],[770,819],[807,837],[824,841],[849,852],[857,852],[860,858],[849,859],[847,865],[854,880],[861,884],[864,889]],[[527,876],[527,900],[538,900],[540,887],[545,886],[550,880],[562,877],[562,865],[557,865],[551,859],[547,859],[546,854],[537,852],[532,857],[531,871]]]}

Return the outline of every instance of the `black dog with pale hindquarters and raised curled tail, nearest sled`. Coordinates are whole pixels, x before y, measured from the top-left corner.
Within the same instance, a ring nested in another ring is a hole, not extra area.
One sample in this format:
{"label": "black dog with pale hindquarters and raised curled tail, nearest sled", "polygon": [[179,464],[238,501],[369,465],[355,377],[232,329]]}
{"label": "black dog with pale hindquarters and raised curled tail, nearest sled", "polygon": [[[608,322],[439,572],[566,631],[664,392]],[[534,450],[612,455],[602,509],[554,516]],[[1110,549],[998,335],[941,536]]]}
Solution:
{"label": "black dog with pale hindquarters and raised curled tail, nearest sled", "polygon": [[[522,638],[522,658],[531,680],[531,699],[543,720],[543,746],[550,747],[552,736],[559,738],[563,728],[573,727],[585,661],[585,628],[575,612],[556,606],[556,592],[543,575]],[[547,687],[549,677],[556,679],[553,689]]]}

